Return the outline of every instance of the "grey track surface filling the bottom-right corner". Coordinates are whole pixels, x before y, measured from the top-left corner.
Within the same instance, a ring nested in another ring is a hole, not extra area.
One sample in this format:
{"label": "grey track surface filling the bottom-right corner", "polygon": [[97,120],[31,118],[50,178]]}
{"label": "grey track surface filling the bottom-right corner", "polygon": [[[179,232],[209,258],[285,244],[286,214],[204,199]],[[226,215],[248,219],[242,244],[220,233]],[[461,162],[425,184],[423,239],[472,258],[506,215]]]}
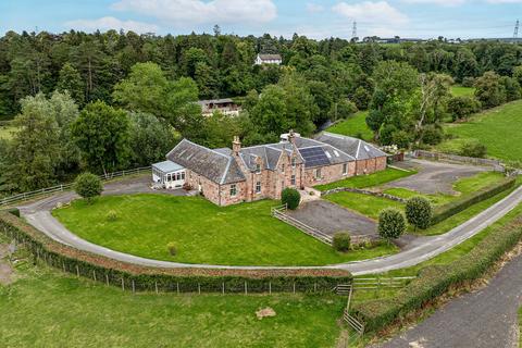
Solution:
{"label": "grey track surface filling the bottom-right corner", "polygon": [[522,256],[519,256],[487,287],[450,301],[417,327],[378,347],[518,347],[521,270]]}

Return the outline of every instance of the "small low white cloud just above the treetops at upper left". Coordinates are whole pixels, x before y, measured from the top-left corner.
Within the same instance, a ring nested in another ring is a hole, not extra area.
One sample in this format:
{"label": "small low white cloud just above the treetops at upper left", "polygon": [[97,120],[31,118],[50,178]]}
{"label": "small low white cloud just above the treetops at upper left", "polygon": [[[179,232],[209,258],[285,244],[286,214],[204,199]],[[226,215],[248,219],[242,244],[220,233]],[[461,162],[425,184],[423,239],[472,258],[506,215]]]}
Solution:
{"label": "small low white cloud just above the treetops at upper left", "polygon": [[65,23],[65,26],[80,29],[80,30],[109,30],[109,29],[124,29],[125,32],[133,30],[138,34],[154,33],[158,30],[156,24],[149,24],[136,21],[121,21],[115,17],[107,16],[97,20],[76,20]]}

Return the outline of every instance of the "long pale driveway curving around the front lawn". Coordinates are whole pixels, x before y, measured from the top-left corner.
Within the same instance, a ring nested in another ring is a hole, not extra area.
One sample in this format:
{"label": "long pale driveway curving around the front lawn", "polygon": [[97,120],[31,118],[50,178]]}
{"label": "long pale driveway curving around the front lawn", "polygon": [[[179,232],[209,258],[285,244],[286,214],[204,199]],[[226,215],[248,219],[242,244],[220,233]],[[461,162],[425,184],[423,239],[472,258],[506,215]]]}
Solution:
{"label": "long pale driveway curving around the front lawn", "polygon": [[[103,195],[123,195],[130,192],[154,192],[144,186],[144,183],[111,183],[105,185]],[[174,195],[182,195],[181,191],[172,191]],[[37,202],[21,206],[21,213],[25,220],[34,227],[38,228],[50,238],[62,244],[75,247],[77,249],[86,250],[92,253],[101,254],[119,261],[158,268],[212,268],[212,269],[274,269],[274,266],[227,266],[227,265],[212,265],[212,264],[188,264],[169,261],[159,261],[152,259],[140,258],[128,253],[114,251],[95,244],[71,233],[58,220],[55,220],[50,210],[57,203],[69,202],[77,196],[73,192],[62,192]],[[451,229],[442,236],[422,237],[413,241],[407,250],[399,253],[371,260],[363,260],[357,262],[348,262],[340,264],[326,265],[323,268],[334,268],[350,271],[353,275],[382,273],[390,270],[408,268],[428,260],[437,254],[445,252],[456,245],[474,236],[488,225],[493,224],[519,203],[522,202],[522,187],[515,189],[508,197],[486,209],[478,215],[470,219],[464,224]],[[279,269],[303,269],[296,266],[287,266]],[[316,268],[315,268],[316,269]]]}

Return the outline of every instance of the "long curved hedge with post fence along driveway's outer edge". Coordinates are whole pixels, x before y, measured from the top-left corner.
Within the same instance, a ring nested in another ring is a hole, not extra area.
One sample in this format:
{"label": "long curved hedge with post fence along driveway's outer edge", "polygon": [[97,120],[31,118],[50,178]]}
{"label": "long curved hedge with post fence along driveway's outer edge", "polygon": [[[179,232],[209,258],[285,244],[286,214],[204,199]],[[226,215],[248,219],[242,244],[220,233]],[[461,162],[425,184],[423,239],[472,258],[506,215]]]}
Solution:
{"label": "long curved hedge with post fence along driveway's outer edge", "polygon": [[78,250],[52,240],[15,215],[0,212],[0,232],[23,243],[51,266],[90,279],[135,291],[331,291],[338,284],[351,283],[343,270],[323,269],[197,269],[149,268]]}

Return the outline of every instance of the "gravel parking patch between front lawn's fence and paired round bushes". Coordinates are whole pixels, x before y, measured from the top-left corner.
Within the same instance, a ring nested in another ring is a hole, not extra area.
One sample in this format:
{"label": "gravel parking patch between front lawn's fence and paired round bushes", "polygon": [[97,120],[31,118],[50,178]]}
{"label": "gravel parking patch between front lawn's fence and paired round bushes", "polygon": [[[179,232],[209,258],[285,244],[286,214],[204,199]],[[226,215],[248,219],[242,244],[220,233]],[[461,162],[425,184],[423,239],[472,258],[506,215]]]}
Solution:
{"label": "gravel parking patch between front lawn's fence and paired round bushes", "polygon": [[376,236],[375,221],[326,200],[302,204],[288,215],[327,235],[348,231],[353,236]]}

